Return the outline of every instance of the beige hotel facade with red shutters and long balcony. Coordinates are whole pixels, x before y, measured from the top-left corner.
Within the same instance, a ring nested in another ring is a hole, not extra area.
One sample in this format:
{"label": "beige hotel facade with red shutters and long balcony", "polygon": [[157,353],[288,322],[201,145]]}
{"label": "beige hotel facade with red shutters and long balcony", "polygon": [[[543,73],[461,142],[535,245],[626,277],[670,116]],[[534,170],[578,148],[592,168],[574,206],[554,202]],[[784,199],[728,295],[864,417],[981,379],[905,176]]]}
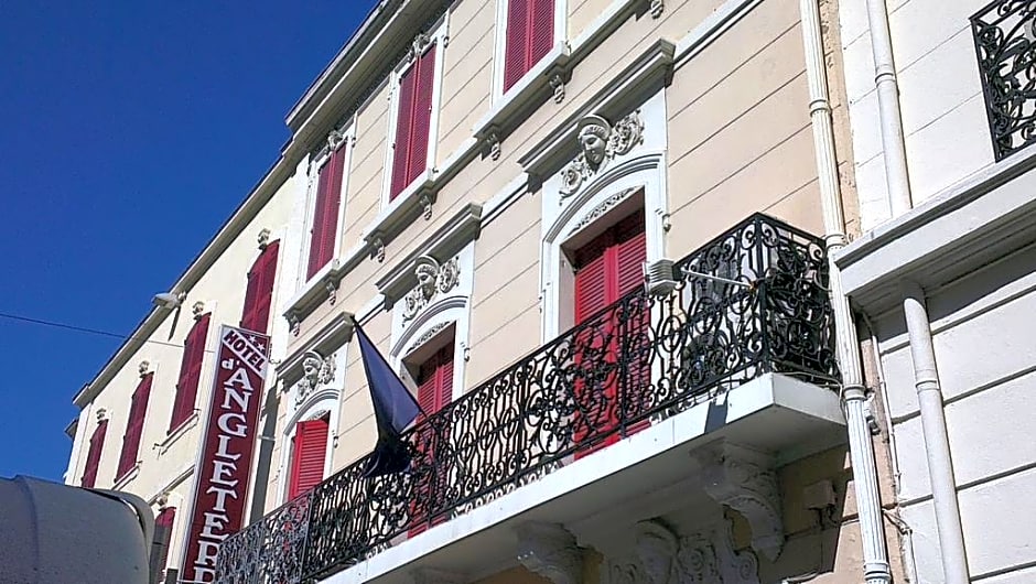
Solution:
{"label": "beige hotel facade with red shutters and long balcony", "polygon": [[[840,10],[379,2],[171,291],[198,323],[266,318],[273,353],[250,524],[217,567],[174,521],[166,580],[898,581],[877,368],[831,262],[873,225]],[[218,343],[175,322],[153,311],[69,428],[69,482],[159,513],[191,505]],[[404,472],[367,476],[357,325],[423,412]]]}

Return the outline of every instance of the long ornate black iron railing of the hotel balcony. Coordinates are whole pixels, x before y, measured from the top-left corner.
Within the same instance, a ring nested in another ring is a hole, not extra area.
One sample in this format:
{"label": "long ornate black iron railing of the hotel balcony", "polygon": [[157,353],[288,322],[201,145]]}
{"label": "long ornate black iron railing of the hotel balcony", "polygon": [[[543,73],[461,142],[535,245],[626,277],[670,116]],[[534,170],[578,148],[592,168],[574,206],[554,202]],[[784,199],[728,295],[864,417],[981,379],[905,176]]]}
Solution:
{"label": "long ornate black iron railing of the hotel balcony", "polygon": [[360,459],[227,539],[217,582],[325,577],[765,372],[835,382],[820,239],[754,215],[673,272],[408,431],[408,472]]}

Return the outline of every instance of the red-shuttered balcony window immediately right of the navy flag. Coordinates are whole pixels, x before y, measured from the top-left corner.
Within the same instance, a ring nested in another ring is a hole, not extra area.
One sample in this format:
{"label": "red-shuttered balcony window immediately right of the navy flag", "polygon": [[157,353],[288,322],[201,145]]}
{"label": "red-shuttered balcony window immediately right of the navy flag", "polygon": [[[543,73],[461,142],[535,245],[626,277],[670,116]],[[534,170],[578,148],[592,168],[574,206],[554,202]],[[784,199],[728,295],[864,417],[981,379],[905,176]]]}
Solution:
{"label": "red-shuttered balcony window immediately right of the navy flag", "polygon": [[[453,401],[453,339],[443,348],[429,357],[418,370],[418,404],[424,414],[433,415]],[[449,436],[442,435],[436,430],[443,430],[441,425],[424,423],[424,417],[418,419],[421,430],[418,432],[418,452],[423,462],[419,465],[424,468],[433,468],[432,473],[418,474],[414,477],[414,494],[417,495],[411,512],[416,517],[428,517],[441,511],[441,505],[435,501],[442,497],[445,489],[445,480],[449,476],[447,469],[434,464],[435,452],[443,448],[441,441]],[[422,509],[423,508],[423,509]],[[445,521],[445,517],[440,517],[431,524],[439,524]],[[429,523],[420,522],[411,526],[410,536],[417,536],[425,529]]]}

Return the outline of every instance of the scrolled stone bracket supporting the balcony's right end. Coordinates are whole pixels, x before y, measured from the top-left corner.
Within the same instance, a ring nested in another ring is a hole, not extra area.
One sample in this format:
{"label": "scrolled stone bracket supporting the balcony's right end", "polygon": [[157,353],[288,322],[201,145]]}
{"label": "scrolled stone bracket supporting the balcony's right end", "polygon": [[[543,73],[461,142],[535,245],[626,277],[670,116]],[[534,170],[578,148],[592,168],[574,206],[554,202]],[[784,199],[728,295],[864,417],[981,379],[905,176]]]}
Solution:
{"label": "scrolled stone bracket supporting the balcony's right end", "polygon": [[775,561],[785,536],[780,491],[770,457],[727,443],[706,446],[693,456],[701,465],[705,493],[743,515],[752,526],[752,548]]}

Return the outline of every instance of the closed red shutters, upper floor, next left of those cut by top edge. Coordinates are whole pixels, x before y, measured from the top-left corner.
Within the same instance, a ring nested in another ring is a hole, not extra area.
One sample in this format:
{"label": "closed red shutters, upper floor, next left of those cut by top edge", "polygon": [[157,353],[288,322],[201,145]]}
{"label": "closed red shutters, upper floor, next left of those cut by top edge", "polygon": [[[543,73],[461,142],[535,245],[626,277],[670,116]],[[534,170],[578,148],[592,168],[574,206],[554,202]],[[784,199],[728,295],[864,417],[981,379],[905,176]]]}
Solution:
{"label": "closed red shutters, upper floor, next left of those cut by top edge", "polygon": [[399,79],[389,201],[395,199],[428,167],[436,47],[438,43],[430,43]]}

